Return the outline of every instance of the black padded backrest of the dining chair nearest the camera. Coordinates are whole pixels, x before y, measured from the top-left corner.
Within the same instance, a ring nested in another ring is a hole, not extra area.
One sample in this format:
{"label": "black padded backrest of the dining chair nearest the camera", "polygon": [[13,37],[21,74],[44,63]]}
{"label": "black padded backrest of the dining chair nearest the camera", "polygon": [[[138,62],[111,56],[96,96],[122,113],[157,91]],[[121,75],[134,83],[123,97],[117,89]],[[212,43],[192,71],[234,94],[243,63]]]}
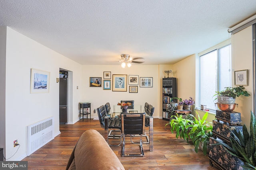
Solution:
{"label": "black padded backrest of the dining chair nearest the camera", "polygon": [[125,135],[142,135],[145,133],[145,114],[121,114],[122,133]]}

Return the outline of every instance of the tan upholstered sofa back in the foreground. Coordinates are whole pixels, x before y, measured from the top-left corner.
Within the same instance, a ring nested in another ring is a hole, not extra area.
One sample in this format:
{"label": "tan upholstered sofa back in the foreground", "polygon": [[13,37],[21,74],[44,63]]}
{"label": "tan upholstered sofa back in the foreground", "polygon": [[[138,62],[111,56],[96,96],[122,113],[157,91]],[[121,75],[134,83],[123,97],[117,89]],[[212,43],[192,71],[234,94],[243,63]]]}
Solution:
{"label": "tan upholstered sofa back in the foreground", "polygon": [[124,166],[98,131],[87,130],[72,151],[66,170],[124,170]]}

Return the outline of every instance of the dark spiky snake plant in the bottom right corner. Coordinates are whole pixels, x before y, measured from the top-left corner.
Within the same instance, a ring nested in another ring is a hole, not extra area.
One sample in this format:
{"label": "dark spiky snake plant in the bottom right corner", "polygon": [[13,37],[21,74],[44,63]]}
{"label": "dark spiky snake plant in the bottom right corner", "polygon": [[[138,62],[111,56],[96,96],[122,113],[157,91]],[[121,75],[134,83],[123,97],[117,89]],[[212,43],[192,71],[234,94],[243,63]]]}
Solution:
{"label": "dark spiky snake plant in the bottom right corner", "polygon": [[[231,129],[230,129],[231,131]],[[243,132],[240,130],[231,131],[231,147],[222,141],[215,145],[222,145],[230,154],[238,157],[244,162],[244,169],[256,170],[256,120],[254,113],[251,111],[250,133],[246,125],[243,125]]]}

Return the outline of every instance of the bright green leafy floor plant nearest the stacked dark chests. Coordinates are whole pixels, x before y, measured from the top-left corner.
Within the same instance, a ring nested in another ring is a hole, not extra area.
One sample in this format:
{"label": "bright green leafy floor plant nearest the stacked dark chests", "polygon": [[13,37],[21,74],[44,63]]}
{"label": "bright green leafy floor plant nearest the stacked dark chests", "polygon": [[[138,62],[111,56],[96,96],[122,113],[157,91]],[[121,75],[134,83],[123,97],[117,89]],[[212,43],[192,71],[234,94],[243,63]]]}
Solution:
{"label": "bright green leafy floor plant nearest the stacked dark chests", "polygon": [[199,145],[202,145],[202,151],[204,152],[204,155],[206,155],[207,143],[209,143],[209,138],[212,137],[212,125],[210,125],[210,123],[212,122],[206,121],[208,117],[208,112],[204,114],[202,119],[200,119],[198,113],[197,115],[198,119],[194,117],[194,115],[191,115],[194,117],[194,120],[192,121],[192,124],[187,125],[186,128],[192,128],[188,135],[192,139],[192,143],[195,147],[195,152],[197,153]]}

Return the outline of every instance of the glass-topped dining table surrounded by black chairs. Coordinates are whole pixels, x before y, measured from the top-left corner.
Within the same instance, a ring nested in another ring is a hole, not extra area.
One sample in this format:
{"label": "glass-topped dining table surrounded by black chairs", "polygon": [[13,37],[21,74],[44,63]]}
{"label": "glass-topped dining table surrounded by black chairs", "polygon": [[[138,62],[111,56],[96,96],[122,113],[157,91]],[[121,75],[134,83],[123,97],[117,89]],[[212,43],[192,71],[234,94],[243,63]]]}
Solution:
{"label": "glass-topped dining table surrounded by black chairs", "polygon": [[[105,121],[105,125],[108,125],[108,121],[111,118],[120,118],[121,117],[121,113],[146,113],[144,110],[144,105],[134,105],[133,108],[128,108],[127,110],[123,110],[121,106],[119,105],[114,105],[112,106],[112,108],[110,109],[110,112],[108,115],[106,115],[104,121]],[[153,116],[149,115],[146,113],[145,118],[149,118],[149,151],[153,151]],[[108,142],[108,126],[105,126],[105,134],[104,137],[106,139],[106,141]]]}

